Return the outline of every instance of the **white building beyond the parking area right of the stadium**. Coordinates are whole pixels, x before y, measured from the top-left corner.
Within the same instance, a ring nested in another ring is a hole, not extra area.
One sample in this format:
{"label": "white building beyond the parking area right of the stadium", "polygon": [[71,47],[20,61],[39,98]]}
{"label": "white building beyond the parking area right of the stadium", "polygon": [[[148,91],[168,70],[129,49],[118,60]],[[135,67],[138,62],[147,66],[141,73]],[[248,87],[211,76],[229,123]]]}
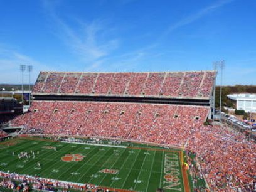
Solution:
{"label": "white building beyond the parking area right of the stadium", "polygon": [[256,113],[256,94],[233,94],[227,97],[236,102],[237,110]]}

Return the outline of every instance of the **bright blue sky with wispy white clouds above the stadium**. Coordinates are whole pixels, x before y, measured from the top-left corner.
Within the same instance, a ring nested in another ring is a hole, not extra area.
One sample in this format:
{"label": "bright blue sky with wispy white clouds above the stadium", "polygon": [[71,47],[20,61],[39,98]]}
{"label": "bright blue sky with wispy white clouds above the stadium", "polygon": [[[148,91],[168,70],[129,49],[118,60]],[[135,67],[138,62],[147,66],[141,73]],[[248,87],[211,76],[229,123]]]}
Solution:
{"label": "bright blue sky with wispy white clouds above the stadium", "polygon": [[20,83],[20,64],[33,65],[35,82],[40,70],[212,70],[225,60],[225,85],[256,85],[255,10],[255,0],[0,0],[0,83]]}

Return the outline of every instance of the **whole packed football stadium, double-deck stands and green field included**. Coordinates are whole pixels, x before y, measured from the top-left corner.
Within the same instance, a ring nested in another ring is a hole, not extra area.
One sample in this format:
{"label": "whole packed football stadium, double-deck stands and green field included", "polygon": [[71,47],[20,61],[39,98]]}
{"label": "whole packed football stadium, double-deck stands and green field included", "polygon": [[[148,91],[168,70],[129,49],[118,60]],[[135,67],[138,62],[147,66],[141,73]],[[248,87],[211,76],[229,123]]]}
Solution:
{"label": "whole packed football stadium, double-deck stands and green field included", "polygon": [[40,72],[28,112],[6,120],[16,134],[0,129],[0,191],[253,191],[255,143],[213,122],[215,82]]}

